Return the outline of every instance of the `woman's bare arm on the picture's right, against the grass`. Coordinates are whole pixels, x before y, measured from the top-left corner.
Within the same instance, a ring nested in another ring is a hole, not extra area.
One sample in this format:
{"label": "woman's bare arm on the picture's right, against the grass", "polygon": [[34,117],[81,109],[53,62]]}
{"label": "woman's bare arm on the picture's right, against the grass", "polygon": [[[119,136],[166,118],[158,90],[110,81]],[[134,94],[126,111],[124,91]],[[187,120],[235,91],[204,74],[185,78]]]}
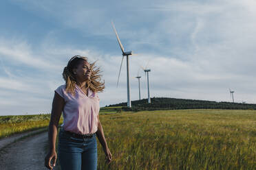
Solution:
{"label": "woman's bare arm on the picture's right, against the grass", "polygon": [[107,162],[110,163],[112,160],[112,155],[111,155],[111,152],[109,151],[109,147],[107,147],[107,141],[104,136],[103,126],[100,123],[99,115],[98,115],[98,130],[97,130],[96,134],[98,136],[98,141],[100,141],[100,144],[103,146],[103,150],[105,152]]}

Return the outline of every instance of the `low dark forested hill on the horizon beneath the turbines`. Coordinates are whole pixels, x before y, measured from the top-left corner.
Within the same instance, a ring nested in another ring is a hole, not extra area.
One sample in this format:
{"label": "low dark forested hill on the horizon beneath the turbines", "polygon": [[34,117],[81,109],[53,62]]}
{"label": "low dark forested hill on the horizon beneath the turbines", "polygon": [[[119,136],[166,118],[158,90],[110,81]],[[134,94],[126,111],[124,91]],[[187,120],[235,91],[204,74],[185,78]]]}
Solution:
{"label": "low dark forested hill on the horizon beneath the turbines", "polygon": [[109,106],[123,106],[124,110],[177,110],[177,109],[242,109],[256,110],[256,104],[241,104],[231,102],[204,101],[193,99],[175,99],[167,97],[153,97],[151,104],[147,99],[131,101],[131,108],[127,108],[127,102]]}

